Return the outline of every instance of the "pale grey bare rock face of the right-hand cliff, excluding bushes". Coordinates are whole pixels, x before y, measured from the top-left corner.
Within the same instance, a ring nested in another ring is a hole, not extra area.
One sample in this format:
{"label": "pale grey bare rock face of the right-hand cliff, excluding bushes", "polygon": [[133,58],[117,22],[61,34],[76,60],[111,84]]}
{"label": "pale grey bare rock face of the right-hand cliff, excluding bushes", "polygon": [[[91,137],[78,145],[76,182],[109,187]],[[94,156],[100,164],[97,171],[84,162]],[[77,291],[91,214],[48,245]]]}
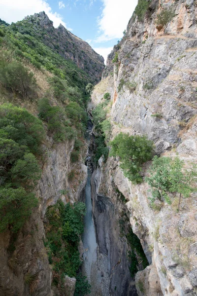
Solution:
{"label": "pale grey bare rock face of the right-hand cliff, excluding bushes", "polygon": [[[165,28],[157,21],[164,9],[173,11]],[[147,135],[157,154],[173,157],[178,153],[187,166],[197,161],[196,22],[196,1],[138,1],[126,36],[108,56],[89,106],[93,109],[110,93],[106,110],[111,139],[120,132]],[[144,177],[149,165],[144,167]],[[183,199],[179,212],[176,198],[171,205],[153,210],[147,183],[131,184],[118,159],[109,157],[101,167],[98,174],[103,181],[97,182],[95,202],[101,204],[104,195],[107,204],[120,208],[112,190],[117,186],[127,199],[133,232],[150,262],[136,274],[138,295],[196,295],[197,195]]]}

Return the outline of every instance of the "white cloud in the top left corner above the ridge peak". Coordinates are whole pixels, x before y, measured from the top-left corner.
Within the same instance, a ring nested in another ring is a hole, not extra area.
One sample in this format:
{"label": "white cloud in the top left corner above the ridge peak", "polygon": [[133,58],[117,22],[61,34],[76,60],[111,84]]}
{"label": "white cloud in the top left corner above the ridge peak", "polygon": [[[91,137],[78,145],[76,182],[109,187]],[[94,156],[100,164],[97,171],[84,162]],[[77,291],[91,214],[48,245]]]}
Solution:
{"label": "white cloud in the top left corner above the ridge peak", "polygon": [[63,17],[59,13],[53,12],[45,0],[0,0],[0,18],[7,23],[15,23],[27,15],[40,11],[45,11],[49,19],[53,21],[54,27],[57,28],[60,23],[66,27]]}

